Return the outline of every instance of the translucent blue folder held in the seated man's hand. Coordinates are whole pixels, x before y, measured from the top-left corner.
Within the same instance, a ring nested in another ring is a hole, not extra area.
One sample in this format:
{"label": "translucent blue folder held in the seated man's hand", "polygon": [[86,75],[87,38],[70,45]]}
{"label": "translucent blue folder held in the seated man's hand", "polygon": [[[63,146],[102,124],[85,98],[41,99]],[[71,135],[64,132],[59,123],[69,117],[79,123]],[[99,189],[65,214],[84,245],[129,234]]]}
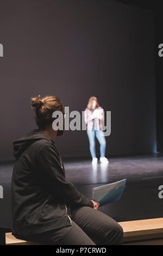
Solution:
{"label": "translucent blue folder held in the seated man's hand", "polygon": [[123,179],[107,185],[94,187],[92,192],[93,200],[99,202],[100,206],[118,201],[126,188],[126,181],[127,179]]}

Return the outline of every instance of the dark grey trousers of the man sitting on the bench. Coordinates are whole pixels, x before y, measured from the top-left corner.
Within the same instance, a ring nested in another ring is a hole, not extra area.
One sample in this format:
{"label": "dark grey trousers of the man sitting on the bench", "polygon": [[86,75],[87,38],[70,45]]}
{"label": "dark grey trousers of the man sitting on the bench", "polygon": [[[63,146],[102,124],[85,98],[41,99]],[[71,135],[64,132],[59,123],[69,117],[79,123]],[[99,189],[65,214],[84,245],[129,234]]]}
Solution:
{"label": "dark grey trousers of the man sitting on the bench", "polygon": [[122,227],[99,210],[84,206],[71,210],[72,225],[30,236],[41,245],[121,245]]}

